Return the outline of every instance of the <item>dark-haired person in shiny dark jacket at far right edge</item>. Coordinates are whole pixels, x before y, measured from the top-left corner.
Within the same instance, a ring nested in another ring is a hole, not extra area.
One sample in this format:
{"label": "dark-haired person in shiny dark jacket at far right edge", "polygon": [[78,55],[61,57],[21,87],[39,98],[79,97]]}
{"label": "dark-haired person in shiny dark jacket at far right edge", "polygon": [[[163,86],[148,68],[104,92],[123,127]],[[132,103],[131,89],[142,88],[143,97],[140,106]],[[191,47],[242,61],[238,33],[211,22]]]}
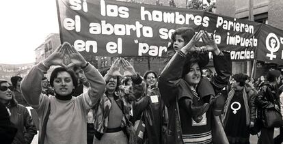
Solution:
{"label": "dark-haired person in shiny dark jacket at far right edge", "polygon": [[265,109],[275,109],[280,111],[280,99],[278,84],[280,83],[280,71],[269,70],[265,82],[259,85],[258,97],[256,97],[256,106],[258,108],[258,119],[260,119],[260,136],[258,144],[273,144],[274,128],[265,128],[263,126],[263,111]]}

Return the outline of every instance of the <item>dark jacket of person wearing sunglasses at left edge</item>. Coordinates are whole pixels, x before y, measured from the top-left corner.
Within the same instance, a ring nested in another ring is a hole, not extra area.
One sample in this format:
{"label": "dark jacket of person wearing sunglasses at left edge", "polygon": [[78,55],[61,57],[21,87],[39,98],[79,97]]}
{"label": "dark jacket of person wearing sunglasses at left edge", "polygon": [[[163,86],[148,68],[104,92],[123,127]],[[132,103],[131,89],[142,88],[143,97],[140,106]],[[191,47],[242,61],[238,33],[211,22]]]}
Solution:
{"label": "dark jacket of person wearing sunglasses at left edge", "polygon": [[37,134],[37,130],[29,111],[21,104],[8,106],[8,108],[11,112],[11,122],[18,128],[12,143],[31,143],[33,136]]}

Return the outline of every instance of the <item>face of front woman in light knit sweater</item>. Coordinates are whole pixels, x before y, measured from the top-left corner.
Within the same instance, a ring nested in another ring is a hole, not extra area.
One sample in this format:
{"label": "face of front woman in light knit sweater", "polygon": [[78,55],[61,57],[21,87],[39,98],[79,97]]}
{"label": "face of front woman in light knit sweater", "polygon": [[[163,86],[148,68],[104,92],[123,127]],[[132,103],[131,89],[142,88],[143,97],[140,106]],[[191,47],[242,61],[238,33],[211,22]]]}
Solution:
{"label": "face of front woman in light knit sweater", "polygon": [[75,89],[68,72],[58,72],[57,78],[53,81],[53,87],[60,96],[67,96],[72,93],[72,89]]}

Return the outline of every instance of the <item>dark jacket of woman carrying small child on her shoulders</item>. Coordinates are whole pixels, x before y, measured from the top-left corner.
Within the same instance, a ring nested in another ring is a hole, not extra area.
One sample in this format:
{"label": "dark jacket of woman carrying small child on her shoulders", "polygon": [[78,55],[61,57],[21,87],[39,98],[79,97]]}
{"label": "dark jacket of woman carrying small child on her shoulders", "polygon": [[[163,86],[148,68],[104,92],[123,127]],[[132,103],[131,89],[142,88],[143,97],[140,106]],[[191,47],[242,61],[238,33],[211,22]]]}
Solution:
{"label": "dark jacket of woman carrying small child on her shoulders", "polygon": [[[189,57],[189,55],[187,57]],[[185,60],[186,57],[180,54],[180,52],[176,53],[170,62],[167,63],[167,66],[165,66],[159,78],[159,91],[163,102],[167,106],[169,115],[166,143],[183,143],[177,98],[185,91],[189,91],[185,85],[187,82],[181,78]],[[221,89],[228,84],[228,79],[231,74],[230,55],[213,55],[213,62],[217,76],[212,78],[211,84],[213,85],[215,93],[219,93]],[[200,83],[204,80],[205,78],[202,78]],[[205,87],[198,88],[197,93],[205,93],[204,88]],[[200,94],[200,97],[201,95],[202,94]]]}

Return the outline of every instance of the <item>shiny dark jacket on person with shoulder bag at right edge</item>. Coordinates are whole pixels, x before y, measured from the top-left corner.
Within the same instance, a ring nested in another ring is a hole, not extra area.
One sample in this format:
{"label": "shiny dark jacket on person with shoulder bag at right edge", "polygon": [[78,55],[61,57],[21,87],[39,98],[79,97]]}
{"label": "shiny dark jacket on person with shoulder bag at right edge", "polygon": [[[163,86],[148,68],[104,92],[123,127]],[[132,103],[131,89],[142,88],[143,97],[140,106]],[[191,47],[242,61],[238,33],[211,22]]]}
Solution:
{"label": "shiny dark jacket on person with shoulder bag at right edge", "polygon": [[[279,91],[276,86],[268,81],[260,84],[256,106],[258,107],[258,119],[262,122],[262,111],[264,109],[275,108],[275,104],[280,108]],[[280,110],[279,110],[280,111]]]}

